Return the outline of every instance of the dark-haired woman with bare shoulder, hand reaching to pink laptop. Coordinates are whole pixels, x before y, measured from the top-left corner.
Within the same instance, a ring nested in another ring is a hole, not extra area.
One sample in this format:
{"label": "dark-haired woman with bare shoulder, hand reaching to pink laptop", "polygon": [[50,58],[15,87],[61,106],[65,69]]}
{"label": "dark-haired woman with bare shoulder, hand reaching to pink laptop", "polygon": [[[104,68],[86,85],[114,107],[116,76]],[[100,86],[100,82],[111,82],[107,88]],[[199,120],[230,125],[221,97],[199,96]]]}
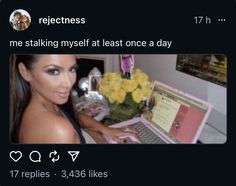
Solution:
{"label": "dark-haired woman with bare shoulder, hand reaching to pink laptop", "polygon": [[135,135],[132,130],[109,128],[90,116],[75,112],[70,96],[76,77],[74,55],[11,55],[12,143],[89,143],[92,138],[85,130],[119,143],[122,136]]}

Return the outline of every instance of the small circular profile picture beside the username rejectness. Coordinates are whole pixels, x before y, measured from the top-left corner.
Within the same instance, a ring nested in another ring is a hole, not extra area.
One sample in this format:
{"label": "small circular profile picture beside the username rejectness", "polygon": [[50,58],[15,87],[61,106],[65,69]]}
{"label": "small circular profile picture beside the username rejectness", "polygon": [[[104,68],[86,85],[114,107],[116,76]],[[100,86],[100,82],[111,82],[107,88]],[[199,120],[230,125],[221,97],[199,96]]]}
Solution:
{"label": "small circular profile picture beside the username rejectness", "polygon": [[29,27],[31,17],[27,11],[18,9],[11,13],[9,21],[13,29],[23,31]]}

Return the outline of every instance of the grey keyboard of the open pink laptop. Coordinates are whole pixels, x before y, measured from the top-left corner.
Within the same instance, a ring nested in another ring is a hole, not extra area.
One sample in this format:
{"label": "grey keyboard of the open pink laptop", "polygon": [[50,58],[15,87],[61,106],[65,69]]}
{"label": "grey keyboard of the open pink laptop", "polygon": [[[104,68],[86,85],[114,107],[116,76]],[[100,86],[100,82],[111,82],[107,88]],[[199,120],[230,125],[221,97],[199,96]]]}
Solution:
{"label": "grey keyboard of the open pink laptop", "polygon": [[147,128],[142,122],[131,125],[138,132],[142,144],[166,144],[159,136]]}

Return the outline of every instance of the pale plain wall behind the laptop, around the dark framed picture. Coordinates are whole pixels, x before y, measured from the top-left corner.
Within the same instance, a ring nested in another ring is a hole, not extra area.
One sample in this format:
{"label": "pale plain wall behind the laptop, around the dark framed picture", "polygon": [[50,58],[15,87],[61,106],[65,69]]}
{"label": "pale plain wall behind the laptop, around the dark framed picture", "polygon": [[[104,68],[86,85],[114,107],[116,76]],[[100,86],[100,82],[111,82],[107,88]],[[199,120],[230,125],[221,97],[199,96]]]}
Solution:
{"label": "pale plain wall behind the laptop, around the dark framed picture", "polygon": [[208,124],[226,134],[226,88],[175,70],[177,55],[135,55],[135,67],[150,78],[213,104]]}

